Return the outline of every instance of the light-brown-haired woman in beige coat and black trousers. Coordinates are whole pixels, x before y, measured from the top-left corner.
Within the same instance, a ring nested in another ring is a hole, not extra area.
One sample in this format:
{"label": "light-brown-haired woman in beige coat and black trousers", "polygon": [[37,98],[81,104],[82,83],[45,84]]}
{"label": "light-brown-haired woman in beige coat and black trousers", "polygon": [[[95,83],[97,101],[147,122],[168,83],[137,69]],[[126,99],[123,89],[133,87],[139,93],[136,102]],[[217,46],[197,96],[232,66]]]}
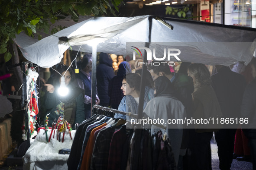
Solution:
{"label": "light-brown-haired woman in beige coat and black trousers", "polygon": [[[211,74],[204,64],[194,63],[188,66],[188,76],[194,82],[192,94],[194,104],[194,119],[209,119],[221,117],[220,105],[214,89],[211,87]],[[206,126],[206,127],[205,127]],[[193,170],[211,170],[210,141],[215,129],[208,125],[194,125],[190,129],[188,143],[188,168]],[[211,126],[212,127],[212,126]]]}

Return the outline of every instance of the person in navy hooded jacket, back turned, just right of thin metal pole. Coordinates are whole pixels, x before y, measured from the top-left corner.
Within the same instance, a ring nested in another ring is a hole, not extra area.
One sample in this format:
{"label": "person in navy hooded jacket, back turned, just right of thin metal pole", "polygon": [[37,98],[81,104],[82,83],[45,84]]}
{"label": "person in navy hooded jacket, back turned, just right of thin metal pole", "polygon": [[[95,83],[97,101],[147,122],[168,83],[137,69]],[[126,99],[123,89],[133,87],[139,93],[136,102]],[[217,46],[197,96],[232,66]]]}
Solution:
{"label": "person in navy hooded jacket, back turned, just right of thin metal pole", "polygon": [[100,53],[99,65],[97,66],[97,90],[101,106],[109,106],[108,85],[115,76],[112,68],[112,59],[107,53]]}

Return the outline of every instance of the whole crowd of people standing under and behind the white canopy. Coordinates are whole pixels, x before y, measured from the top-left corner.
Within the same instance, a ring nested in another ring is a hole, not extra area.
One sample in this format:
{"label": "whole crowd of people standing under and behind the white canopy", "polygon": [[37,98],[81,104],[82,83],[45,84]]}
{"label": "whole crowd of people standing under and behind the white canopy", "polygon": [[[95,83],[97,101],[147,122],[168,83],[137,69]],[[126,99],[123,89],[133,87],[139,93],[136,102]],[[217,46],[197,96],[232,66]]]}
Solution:
{"label": "whole crowd of people standing under and behind the white canopy", "polygon": [[[211,75],[206,65],[201,63],[182,63],[180,70],[174,72],[165,62],[147,66],[145,76],[145,95],[143,116],[151,119],[207,119],[248,117],[256,120],[256,59],[250,63],[253,80],[246,86],[246,79],[230,67],[216,65],[216,74]],[[123,56],[100,53],[97,65],[96,104],[124,112],[138,114],[141,67],[136,62],[125,61]],[[157,62],[159,63],[159,62]],[[42,102],[45,113],[49,115],[49,125],[65,115],[73,129],[76,125],[91,117],[91,70],[92,56],[85,54],[79,65],[79,73],[68,66],[59,66],[58,73],[45,84],[45,97]],[[183,66],[182,66],[183,65]],[[57,93],[65,77],[69,95],[63,97]],[[130,116],[116,113],[116,119],[129,121]],[[207,128],[193,126],[186,129],[183,125],[170,127],[166,134],[171,139],[172,150],[178,169],[210,170],[210,141],[215,135],[218,146],[220,169],[230,169],[233,160],[237,129]],[[151,132],[156,127],[151,126]],[[242,127],[243,128],[243,127]],[[256,131],[242,129],[248,138],[248,145],[256,169]],[[161,129],[165,134],[165,130]],[[241,133],[241,128],[240,128]],[[237,139],[236,139],[237,140]]]}

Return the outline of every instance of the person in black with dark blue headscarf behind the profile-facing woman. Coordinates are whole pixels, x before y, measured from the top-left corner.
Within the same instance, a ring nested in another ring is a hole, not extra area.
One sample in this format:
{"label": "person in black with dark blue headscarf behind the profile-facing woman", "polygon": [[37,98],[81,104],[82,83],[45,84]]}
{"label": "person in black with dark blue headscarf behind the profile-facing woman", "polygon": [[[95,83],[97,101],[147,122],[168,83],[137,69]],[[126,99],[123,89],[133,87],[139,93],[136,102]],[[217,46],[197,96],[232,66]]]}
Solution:
{"label": "person in black with dark blue headscarf behind the profile-facing woman", "polygon": [[118,106],[123,98],[122,81],[123,77],[131,72],[130,64],[126,61],[119,65],[117,76],[114,76],[108,86],[108,95],[110,97],[110,106],[113,109],[118,109]]}

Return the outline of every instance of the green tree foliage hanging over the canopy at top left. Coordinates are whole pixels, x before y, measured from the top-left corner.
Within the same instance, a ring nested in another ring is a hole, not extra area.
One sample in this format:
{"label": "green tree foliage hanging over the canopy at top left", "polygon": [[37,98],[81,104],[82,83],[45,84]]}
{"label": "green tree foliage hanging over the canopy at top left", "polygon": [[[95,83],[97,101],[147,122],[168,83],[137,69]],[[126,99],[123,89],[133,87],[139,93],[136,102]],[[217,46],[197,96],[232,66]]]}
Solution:
{"label": "green tree foliage hanging over the canopy at top left", "polygon": [[[34,36],[36,30],[49,33],[50,24],[65,16],[75,22],[78,16],[114,15],[122,0],[0,0],[0,54],[10,60],[9,44],[15,34],[25,31]],[[58,26],[52,33],[61,30]],[[39,35],[40,38],[40,35]]]}

